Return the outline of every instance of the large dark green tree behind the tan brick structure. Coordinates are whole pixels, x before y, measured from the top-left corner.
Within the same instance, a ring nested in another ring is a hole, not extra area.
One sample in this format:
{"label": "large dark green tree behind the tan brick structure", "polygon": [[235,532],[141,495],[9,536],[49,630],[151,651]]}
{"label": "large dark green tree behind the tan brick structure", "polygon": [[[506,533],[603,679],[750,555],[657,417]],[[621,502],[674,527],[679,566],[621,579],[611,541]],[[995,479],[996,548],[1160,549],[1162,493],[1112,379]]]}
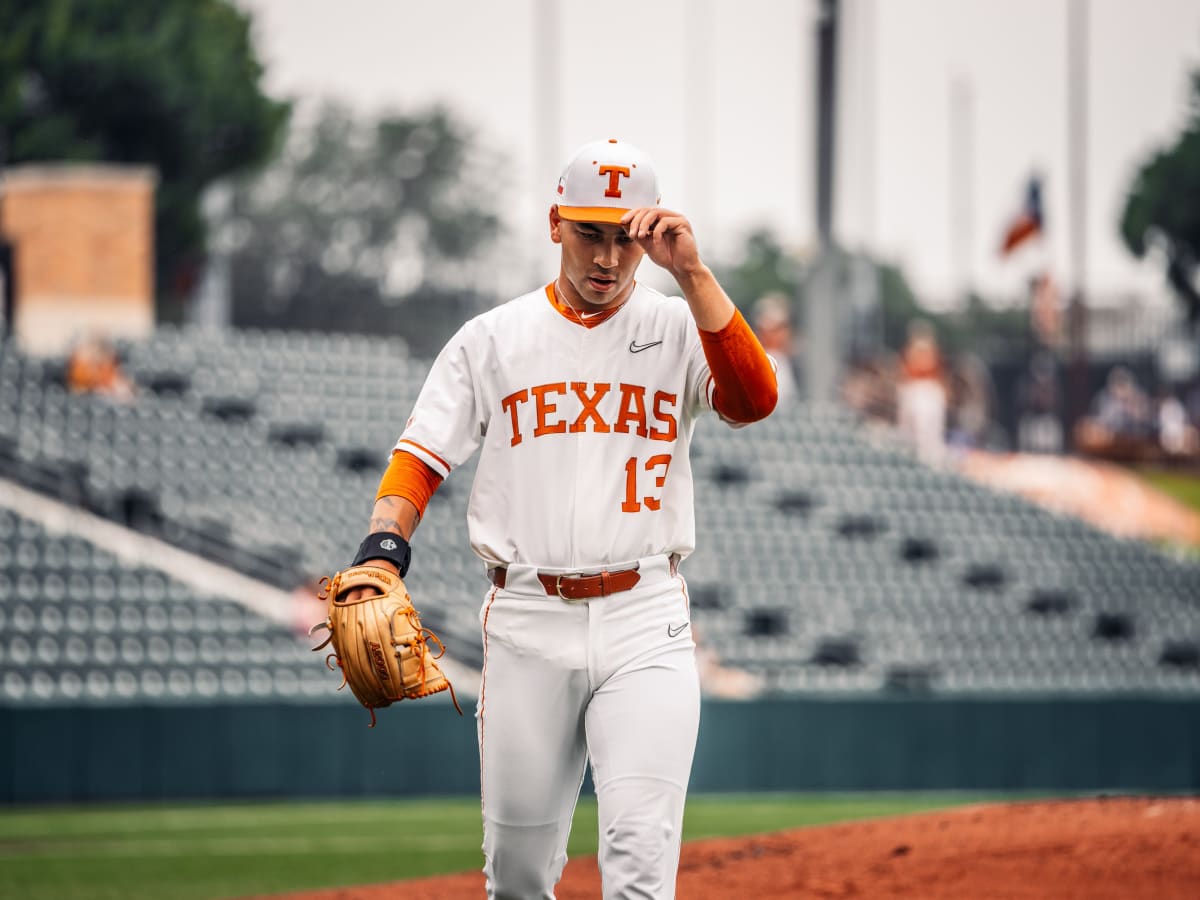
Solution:
{"label": "large dark green tree behind the tan brick structure", "polygon": [[151,164],[160,314],[204,258],[199,200],[266,160],[288,106],[260,89],[250,18],[226,0],[0,0],[0,164]]}

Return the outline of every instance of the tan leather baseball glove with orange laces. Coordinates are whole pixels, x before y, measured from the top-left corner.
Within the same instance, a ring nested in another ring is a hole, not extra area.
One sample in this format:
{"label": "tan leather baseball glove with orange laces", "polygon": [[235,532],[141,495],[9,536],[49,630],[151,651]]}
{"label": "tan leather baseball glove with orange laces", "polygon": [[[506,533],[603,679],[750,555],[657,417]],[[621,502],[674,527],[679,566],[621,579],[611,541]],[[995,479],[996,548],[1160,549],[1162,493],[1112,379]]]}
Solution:
{"label": "tan leather baseball glove with orange laces", "polygon": [[[313,650],[332,644],[334,652],[325,656],[325,665],[334,670],[336,661],[342,670],[337,689],[350,685],[359,702],[371,710],[372,728],[376,709],[444,690],[450,691],[454,707],[462,715],[454,688],[437,664],[445,647],[421,625],[398,575],[373,565],[355,565],[332,578],[322,578],[320,586],[317,596],[329,600],[329,618],[313,625],[308,634],[324,628],[329,637]],[[356,588],[373,588],[378,593]]]}

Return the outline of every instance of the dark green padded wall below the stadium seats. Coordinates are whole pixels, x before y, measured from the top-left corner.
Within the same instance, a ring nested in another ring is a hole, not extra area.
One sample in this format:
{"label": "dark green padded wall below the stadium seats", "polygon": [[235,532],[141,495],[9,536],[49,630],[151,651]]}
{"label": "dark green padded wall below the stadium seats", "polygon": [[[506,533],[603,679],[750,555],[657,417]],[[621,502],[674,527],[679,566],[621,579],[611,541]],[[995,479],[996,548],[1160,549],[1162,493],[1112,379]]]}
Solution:
{"label": "dark green padded wall below the stadium seats", "polygon": [[[0,707],[0,803],[467,794],[475,722],[432,700]],[[695,791],[1196,791],[1200,697],[704,704]]]}

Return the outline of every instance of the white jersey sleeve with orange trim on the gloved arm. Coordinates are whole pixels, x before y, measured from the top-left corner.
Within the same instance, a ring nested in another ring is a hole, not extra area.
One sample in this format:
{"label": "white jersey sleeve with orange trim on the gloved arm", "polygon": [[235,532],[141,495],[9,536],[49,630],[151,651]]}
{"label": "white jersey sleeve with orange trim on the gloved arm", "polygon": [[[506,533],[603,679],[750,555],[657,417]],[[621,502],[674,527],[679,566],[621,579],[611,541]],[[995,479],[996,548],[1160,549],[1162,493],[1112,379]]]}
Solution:
{"label": "white jersey sleeve with orange trim on the gloved arm", "polygon": [[482,403],[468,349],[469,325],[458,329],[433,360],[395,446],[413,454],[442,478],[466,462],[482,439]]}

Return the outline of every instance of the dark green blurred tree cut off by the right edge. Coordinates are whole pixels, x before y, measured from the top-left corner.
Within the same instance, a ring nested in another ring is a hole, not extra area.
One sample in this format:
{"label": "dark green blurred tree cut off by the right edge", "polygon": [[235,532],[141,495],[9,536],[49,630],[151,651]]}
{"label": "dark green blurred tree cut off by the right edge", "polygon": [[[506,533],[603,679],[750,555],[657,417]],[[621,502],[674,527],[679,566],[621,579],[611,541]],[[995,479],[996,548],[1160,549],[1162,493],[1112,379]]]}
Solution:
{"label": "dark green blurred tree cut off by the right edge", "polygon": [[1121,236],[1139,259],[1151,248],[1162,251],[1166,278],[1193,326],[1200,328],[1200,72],[1192,76],[1190,114],[1182,133],[1134,176]]}

